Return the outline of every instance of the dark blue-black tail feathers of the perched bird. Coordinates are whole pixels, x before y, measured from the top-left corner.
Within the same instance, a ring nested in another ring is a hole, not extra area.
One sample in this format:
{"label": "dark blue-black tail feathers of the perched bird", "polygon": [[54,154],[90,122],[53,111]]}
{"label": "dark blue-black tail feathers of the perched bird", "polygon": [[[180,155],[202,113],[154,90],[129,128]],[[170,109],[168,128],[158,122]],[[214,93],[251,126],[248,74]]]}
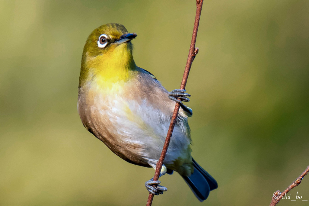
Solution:
{"label": "dark blue-black tail feathers of the perched bird", "polygon": [[201,202],[206,200],[209,192],[218,188],[217,181],[211,177],[197,162],[192,158],[194,171],[190,177],[182,176],[187,182],[194,195]]}

